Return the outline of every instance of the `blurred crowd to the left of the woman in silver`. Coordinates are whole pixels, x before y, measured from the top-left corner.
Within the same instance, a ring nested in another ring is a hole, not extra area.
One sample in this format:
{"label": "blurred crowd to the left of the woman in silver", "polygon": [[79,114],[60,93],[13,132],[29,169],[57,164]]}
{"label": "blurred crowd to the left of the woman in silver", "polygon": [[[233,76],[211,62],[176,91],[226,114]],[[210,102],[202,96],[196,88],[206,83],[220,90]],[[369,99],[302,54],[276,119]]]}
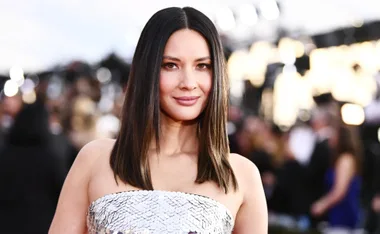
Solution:
{"label": "blurred crowd to the left of the woman in silver", "polygon": [[33,83],[31,99],[24,89],[14,96],[1,93],[0,233],[47,233],[79,150],[92,140],[116,137],[125,86],[123,74],[116,74],[120,66],[111,74],[118,62],[110,56],[103,74],[82,62],[25,74],[22,87]]}

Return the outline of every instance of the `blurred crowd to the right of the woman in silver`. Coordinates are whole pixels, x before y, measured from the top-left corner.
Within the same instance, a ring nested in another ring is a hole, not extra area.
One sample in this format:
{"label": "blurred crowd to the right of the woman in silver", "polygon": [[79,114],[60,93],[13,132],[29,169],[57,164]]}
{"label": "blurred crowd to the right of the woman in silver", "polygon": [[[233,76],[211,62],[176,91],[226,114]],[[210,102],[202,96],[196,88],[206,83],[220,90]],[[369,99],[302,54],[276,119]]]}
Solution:
{"label": "blurred crowd to the right of the woman in silver", "polygon": [[369,127],[344,123],[331,94],[314,101],[290,128],[231,107],[231,152],[258,167],[273,233],[380,233],[380,143]]}

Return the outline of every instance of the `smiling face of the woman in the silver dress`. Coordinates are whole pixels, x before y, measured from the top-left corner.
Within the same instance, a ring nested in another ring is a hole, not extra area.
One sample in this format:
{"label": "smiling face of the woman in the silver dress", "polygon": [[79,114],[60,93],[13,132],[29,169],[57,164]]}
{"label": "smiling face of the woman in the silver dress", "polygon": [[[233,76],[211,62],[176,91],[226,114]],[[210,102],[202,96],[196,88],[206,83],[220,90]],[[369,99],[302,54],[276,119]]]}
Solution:
{"label": "smiling face of the woman in the silver dress", "polygon": [[173,33],[160,72],[161,111],[174,121],[196,119],[212,86],[212,61],[206,40],[196,31]]}

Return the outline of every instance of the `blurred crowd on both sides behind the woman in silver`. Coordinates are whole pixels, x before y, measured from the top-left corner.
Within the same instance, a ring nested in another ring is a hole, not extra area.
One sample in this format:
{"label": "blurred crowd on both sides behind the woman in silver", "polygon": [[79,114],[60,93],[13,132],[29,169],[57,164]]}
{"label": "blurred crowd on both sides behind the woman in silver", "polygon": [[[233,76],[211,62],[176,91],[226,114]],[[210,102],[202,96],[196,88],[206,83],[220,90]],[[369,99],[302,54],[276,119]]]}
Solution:
{"label": "blurred crowd on both sides behind the woman in silver", "polygon": [[[128,68],[111,55],[95,71],[73,62],[38,77],[35,99],[25,99],[21,91],[1,96],[4,233],[47,232],[79,150],[118,133]],[[365,126],[345,124],[342,103],[331,94],[314,101],[312,111],[302,113],[290,128],[247,111],[254,99],[229,108],[230,149],[260,171],[270,233],[331,227],[380,233],[380,143],[367,137],[371,131]]]}

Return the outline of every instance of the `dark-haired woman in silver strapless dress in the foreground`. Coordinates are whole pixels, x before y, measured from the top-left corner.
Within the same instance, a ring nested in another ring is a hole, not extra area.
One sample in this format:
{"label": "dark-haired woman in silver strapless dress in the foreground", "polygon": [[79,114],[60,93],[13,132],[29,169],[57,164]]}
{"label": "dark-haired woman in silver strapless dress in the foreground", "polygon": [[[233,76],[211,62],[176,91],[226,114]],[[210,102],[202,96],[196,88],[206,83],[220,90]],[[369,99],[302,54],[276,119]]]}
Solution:
{"label": "dark-haired woman in silver strapless dress in the foreground", "polygon": [[222,51],[199,11],[153,15],[133,58],[119,136],[80,151],[51,234],[267,233],[257,168],[228,149]]}

